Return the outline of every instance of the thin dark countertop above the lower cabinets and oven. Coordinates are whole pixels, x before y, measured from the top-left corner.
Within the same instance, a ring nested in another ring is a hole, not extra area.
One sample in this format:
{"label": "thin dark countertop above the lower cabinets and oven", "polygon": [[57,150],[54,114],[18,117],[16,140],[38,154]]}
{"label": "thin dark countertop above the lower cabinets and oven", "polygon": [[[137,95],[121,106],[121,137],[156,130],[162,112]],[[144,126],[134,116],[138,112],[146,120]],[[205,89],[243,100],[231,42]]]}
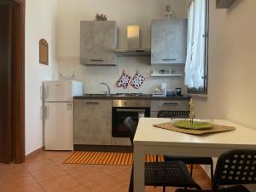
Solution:
{"label": "thin dark countertop above the lower cabinets and oven", "polygon": [[189,100],[190,96],[104,96],[88,94],[84,96],[74,96],[74,99],[106,99],[106,100]]}

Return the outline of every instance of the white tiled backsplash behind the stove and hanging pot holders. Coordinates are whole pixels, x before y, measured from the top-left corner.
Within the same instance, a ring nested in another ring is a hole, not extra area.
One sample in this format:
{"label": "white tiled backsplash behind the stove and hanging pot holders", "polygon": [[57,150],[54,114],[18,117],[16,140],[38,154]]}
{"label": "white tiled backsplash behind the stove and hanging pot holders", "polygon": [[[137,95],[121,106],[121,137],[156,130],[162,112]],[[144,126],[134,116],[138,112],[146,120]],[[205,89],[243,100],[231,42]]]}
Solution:
{"label": "white tiled backsplash behind the stove and hanging pot holders", "polygon": [[[76,57],[61,57],[59,58],[59,79],[71,79],[84,82],[84,93],[102,93],[106,91],[106,87],[99,83],[105,82],[109,84],[111,93],[117,92],[142,92],[144,94],[152,93],[155,86],[160,86],[160,83],[165,82],[167,89],[175,89],[180,87],[183,94],[186,93],[183,77],[151,77],[153,70],[160,69],[175,69],[177,73],[183,73],[183,66],[151,66],[150,57],[119,57],[118,65],[115,67],[88,67],[80,64],[79,58]],[[143,86],[139,89],[134,89],[131,85],[127,89],[116,86],[123,69],[131,77],[139,69],[140,73],[146,78]],[[76,73],[75,76],[73,74]],[[72,77],[73,76],[73,77]]]}

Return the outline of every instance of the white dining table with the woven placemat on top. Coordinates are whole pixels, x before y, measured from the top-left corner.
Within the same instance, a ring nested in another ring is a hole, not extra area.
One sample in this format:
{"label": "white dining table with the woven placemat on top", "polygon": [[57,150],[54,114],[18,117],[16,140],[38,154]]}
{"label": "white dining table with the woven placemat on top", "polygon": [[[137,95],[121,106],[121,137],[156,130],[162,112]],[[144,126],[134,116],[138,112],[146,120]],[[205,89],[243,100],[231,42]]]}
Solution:
{"label": "white dining table with the woven placemat on top", "polygon": [[231,149],[256,149],[256,131],[224,119],[213,119],[216,125],[234,126],[227,131],[195,136],[154,127],[171,122],[164,118],[141,118],[134,137],[134,192],[145,191],[144,162],[146,154],[171,154],[218,157]]}

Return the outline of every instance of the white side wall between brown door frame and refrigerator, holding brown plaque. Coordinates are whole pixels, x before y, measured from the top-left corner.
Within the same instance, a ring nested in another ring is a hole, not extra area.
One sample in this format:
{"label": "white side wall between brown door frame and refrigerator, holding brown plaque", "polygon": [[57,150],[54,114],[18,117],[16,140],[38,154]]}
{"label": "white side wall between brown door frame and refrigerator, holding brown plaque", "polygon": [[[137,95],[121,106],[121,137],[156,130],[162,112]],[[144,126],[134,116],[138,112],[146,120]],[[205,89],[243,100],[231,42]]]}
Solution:
{"label": "white side wall between brown door frame and refrigerator, holding brown plaque", "polygon": [[[56,8],[57,0],[26,0],[26,154],[43,145],[40,86],[56,76]],[[49,43],[49,66],[39,64],[41,38]]]}

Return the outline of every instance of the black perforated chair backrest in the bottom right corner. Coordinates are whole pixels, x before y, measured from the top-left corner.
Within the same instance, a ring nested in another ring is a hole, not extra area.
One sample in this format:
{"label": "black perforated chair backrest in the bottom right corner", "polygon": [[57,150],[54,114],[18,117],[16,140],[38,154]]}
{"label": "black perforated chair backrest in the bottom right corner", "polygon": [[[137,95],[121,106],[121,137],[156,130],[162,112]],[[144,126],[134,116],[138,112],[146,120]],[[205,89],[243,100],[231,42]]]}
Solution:
{"label": "black perforated chair backrest in the bottom right corner", "polygon": [[220,185],[256,183],[256,150],[231,150],[218,158],[212,189]]}

